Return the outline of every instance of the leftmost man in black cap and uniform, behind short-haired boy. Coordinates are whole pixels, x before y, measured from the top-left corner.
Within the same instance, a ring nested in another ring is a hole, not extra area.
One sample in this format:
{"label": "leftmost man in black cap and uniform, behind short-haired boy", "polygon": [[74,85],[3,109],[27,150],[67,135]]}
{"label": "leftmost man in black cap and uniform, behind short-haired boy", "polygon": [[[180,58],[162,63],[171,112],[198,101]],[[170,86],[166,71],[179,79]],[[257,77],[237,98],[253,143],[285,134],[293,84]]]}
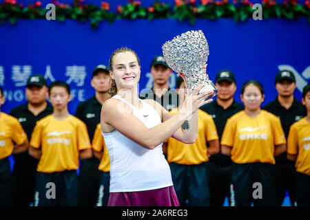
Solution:
{"label": "leftmost man in black cap and uniform, behind short-haired boy", "polygon": [[[47,102],[48,83],[41,75],[28,78],[25,87],[28,102],[11,109],[10,115],[17,118],[27,134],[28,141],[38,120],[53,112]],[[13,155],[14,167],[12,171],[13,206],[30,206],[34,200],[34,181],[38,160],[28,152]]]}

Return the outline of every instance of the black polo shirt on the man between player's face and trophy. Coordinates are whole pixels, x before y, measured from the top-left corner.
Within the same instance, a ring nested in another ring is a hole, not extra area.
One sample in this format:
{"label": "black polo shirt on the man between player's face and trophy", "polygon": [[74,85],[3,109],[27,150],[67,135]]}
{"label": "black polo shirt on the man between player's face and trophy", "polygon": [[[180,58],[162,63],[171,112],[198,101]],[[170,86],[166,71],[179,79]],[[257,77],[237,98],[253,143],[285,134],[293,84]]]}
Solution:
{"label": "black polo shirt on the man between player's face and trophy", "polygon": [[145,93],[140,94],[139,98],[143,99],[152,99],[161,104],[167,111],[170,111],[178,107],[178,94],[175,89],[168,88],[161,98],[154,94],[153,88],[148,89]]}

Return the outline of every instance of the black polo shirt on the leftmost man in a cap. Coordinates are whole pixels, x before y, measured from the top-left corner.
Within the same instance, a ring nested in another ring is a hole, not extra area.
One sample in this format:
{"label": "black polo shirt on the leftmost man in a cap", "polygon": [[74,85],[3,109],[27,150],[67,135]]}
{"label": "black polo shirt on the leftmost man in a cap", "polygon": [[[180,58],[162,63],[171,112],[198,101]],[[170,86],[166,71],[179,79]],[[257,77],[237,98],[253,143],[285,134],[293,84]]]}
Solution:
{"label": "black polo shirt on the leftmost man in a cap", "polygon": [[[23,130],[28,136],[30,141],[32,131],[38,120],[41,120],[47,115],[53,113],[52,105],[48,106],[39,113],[39,115],[34,115],[28,109],[28,103],[21,104],[14,109],[11,109],[10,115],[17,118],[23,127]],[[14,168],[13,173],[17,175],[34,176],[37,170],[38,159],[30,156],[28,152],[17,153],[13,155],[14,158]]]}

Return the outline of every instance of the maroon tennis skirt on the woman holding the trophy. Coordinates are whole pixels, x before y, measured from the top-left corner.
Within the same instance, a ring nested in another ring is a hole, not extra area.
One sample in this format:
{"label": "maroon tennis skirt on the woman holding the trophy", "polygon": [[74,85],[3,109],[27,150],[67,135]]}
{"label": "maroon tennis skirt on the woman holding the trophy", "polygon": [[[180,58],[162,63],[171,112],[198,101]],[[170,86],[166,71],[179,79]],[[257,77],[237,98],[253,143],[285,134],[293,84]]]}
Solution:
{"label": "maroon tennis skirt on the woman holding the trophy", "polygon": [[174,186],[138,192],[110,192],[107,206],[180,206]]}

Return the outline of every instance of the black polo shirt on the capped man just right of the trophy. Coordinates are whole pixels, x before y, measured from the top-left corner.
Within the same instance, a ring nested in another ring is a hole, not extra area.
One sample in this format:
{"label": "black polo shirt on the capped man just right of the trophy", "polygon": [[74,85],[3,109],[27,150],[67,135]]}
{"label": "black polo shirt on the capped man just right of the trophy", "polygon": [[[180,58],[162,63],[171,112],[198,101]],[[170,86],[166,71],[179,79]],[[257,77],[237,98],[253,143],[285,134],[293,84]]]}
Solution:
{"label": "black polo shirt on the capped man just right of the trophy", "polygon": [[[238,113],[238,111],[242,111],[244,107],[242,104],[234,100],[234,102],[232,102],[227,109],[223,109],[223,107],[221,107],[215,100],[214,102],[203,105],[200,109],[207,112],[213,118],[214,123],[216,124],[216,130],[218,131],[218,138],[220,140],[223,135],[227,119]],[[223,153],[212,155],[212,157],[210,157],[210,161],[220,166],[232,164],[231,158],[227,155],[223,155]]]}

